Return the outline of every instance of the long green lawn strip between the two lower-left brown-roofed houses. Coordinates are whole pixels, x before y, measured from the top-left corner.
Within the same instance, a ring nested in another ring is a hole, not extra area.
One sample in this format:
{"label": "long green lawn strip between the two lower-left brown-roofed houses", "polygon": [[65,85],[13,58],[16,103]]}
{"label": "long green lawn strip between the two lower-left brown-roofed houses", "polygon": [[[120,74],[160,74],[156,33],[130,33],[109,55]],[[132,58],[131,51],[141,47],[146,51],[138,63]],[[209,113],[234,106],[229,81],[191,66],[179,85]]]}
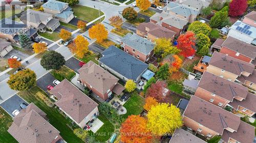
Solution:
{"label": "long green lawn strip between the two lower-left brown-roofed houses", "polygon": [[73,130],[67,126],[67,124],[70,124],[69,120],[63,117],[57,108],[51,108],[47,106],[44,101],[38,100],[35,97],[37,92],[46,94],[39,87],[35,86],[29,91],[19,92],[18,95],[25,99],[28,103],[33,102],[37,107],[44,111],[47,114],[50,124],[60,131],[60,135],[64,140],[67,142],[83,142],[73,133]]}

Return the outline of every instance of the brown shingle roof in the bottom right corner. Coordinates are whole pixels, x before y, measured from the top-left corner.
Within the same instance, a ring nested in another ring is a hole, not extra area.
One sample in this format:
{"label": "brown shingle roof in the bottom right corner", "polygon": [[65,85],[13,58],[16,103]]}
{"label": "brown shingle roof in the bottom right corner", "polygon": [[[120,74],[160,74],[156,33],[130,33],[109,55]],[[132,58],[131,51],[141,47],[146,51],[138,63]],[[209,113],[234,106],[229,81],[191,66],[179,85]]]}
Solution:
{"label": "brown shingle roof in the bottom right corner", "polygon": [[241,121],[237,132],[224,131],[221,139],[228,142],[229,137],[241,143],[253,142],[255,127]]}

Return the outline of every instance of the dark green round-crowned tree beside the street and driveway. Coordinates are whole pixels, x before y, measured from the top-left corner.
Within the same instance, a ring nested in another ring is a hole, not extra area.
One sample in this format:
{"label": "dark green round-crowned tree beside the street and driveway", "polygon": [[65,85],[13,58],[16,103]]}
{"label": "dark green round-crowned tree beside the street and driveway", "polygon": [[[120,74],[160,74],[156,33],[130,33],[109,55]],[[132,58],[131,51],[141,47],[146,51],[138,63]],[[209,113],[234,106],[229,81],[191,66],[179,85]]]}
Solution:
{"label": "dark green round-crowned tree beside the street and driveway", "polygon": [[47,51],[42,55],[40,64],[46,70],[59,70],[65,64],[64,56],[56,51]]}

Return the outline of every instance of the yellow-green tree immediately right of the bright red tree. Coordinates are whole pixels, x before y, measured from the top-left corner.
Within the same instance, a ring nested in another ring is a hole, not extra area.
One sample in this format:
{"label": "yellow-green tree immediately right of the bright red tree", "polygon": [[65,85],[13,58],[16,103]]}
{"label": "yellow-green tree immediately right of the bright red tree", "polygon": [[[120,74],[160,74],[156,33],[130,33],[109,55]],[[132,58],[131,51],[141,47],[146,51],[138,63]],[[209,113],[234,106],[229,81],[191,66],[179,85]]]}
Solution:
{"label": "yellow-green tree immediately right of the bright red tree", "polygon": [[201,55],[206,55],[209,52],[210,38],[202,33],[197,35],[197,53]]}

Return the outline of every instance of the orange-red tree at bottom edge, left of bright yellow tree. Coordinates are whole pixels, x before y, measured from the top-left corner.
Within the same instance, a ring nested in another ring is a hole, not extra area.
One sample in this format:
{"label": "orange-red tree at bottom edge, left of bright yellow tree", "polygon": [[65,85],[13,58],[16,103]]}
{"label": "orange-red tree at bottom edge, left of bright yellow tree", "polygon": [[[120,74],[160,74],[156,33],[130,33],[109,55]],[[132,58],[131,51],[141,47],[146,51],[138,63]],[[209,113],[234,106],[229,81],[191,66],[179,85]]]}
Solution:
{"label": "orange-red tree at bottom edge, left of bright yellow tree", "polygon": [[121,125],[121,140],[125,143],[152,142],[152,135],[146,128],[147,121],[139,115],[129,116]]}

